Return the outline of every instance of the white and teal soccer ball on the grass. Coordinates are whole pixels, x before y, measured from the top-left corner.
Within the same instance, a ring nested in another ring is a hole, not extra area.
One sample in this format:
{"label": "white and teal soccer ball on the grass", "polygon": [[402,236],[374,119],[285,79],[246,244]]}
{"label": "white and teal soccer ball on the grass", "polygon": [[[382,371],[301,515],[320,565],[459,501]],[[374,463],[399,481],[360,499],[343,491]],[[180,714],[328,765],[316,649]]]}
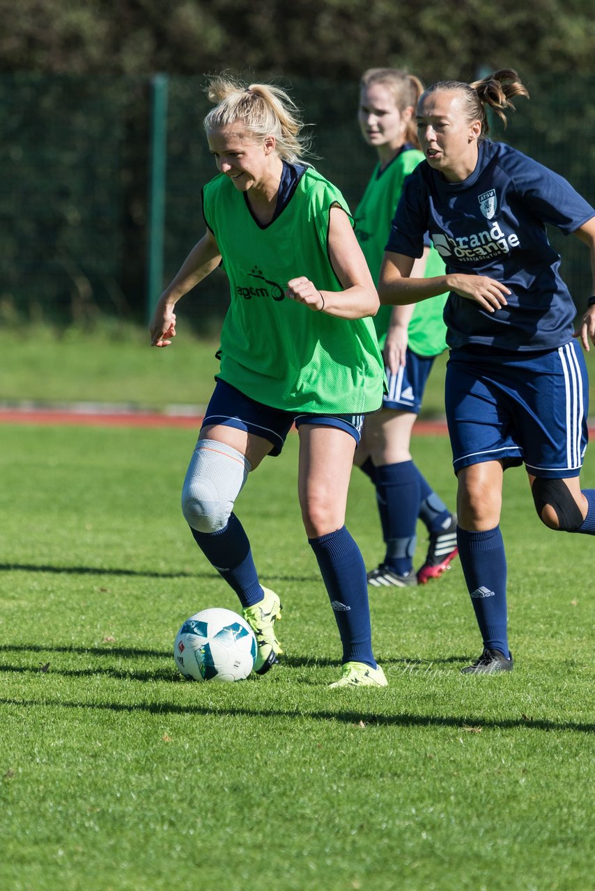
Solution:
{"label": "white and teal soccer ball on the grass", "polygon": [[248,623],[231,609],[203,609],[176,635],[174,659],[189,681],[243,681],[256,658],[256,638]]}

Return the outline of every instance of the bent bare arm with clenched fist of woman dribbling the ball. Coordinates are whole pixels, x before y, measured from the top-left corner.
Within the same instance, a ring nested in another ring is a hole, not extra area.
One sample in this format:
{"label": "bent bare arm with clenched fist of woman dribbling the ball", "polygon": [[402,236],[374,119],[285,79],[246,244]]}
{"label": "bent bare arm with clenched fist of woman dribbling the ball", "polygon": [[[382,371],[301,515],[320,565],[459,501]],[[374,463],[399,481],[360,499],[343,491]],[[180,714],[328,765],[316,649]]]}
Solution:
{"label": "bent bare arm with clenched fist of woman dribbling the ball", "polygon": [[351,222],[342,208],[330,210],[328,253],[343,290],[316,290],[315,282],[298,277],[288,282],[287,297],[310,309],[321,310],[341,319],[361,319],[376,315],[380,306],[372,275]]}

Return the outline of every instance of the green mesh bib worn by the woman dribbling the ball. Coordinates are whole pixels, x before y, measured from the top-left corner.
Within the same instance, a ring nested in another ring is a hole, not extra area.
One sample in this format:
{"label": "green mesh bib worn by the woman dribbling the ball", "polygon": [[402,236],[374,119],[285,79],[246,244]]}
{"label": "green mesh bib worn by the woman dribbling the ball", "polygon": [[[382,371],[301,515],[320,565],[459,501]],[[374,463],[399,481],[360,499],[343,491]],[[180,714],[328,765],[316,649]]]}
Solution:
{"label": "green mesh bib worn by the woman dribbling the ball", "polygon": [[382,402],[384,367],[372,319],[340,319],[285,298],[287,282],[300,275],[319,290],[343,290],[328,254],[334,205],[349,215],[341,192],[310,167],[268,225],[252,216],[227,176],[202,190],[231,293],[217,376],[273,408],[362,414]]}

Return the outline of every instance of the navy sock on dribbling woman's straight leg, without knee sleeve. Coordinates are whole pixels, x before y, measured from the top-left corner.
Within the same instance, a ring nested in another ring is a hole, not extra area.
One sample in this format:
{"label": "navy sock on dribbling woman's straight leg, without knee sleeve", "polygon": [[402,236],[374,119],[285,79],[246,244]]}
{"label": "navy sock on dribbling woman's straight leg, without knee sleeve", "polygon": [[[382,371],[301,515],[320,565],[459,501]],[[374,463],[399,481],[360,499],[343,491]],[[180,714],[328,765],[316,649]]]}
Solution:
{"label": "navy sock on dribbling woman's straight leg, without knee sleeve", "polygon": [[368,579],[359,547],[343,526],[309,538],[335,612],[343,644],[343,663],[364,662],[376,668],[368,605]]}

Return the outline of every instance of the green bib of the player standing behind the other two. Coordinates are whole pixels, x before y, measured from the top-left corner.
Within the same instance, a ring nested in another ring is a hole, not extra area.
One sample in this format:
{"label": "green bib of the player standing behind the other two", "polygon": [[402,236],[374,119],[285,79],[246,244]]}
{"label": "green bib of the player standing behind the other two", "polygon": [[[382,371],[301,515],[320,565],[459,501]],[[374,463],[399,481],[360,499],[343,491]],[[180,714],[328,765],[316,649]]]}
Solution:
{"label": "green bib of the player standing behind the other two", "polygon": [[[405,143],[384,169],[376,164],[355,211],[355,234],[368,262],[376,285],[384,257],[384,245],[391,228],[394,209],[399,203],[406,176],[424,159],[421,151]],[[429,242],[428,242],[429,243]],[[430,249],[426,275],[443,275],[444,264],[437,251]],[[409,347],[419,356],[437,356],[446,347],[446,327],[442,311],[447,294],[423,300],[415,307],[409,322]],[[375,318],[376,333],[384,346],[393,307],[380,307]]]}

